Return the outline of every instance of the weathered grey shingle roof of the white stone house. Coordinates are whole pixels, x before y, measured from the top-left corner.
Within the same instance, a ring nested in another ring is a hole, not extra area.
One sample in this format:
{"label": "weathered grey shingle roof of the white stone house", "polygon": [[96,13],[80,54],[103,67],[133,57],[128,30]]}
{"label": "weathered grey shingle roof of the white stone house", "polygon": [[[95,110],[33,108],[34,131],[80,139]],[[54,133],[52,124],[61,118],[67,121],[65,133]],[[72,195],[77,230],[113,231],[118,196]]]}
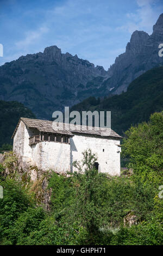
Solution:
{"label": "weathered grey shingle roof of the white stone house", "polygon": [[20,118],[16,126],[16,129],[12,135],[12,138],[14,137],[17,131],[17,127],[20,124],[21,120],[28,128],[36,128],[40,132],[59,133],[59,134],[69,135],[69,136],[73,136],[73,133],[85,133],[85,134],[91,134],[91,135],[98,135],[102,137],[122,138],[120,135],[118,135],[115,131],[113,131],[110,128],[56,123],[54,121],[30,119],[30,118]]}

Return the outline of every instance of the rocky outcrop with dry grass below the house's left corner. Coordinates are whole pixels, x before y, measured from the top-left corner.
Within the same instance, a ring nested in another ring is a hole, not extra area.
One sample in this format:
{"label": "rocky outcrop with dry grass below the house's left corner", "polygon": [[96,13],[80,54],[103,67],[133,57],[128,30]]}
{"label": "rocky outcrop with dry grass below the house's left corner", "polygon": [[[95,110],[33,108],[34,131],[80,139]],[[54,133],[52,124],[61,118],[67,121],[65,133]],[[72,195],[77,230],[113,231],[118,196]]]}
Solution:
{"label": "rocky outcrop with dry grass below the house's left corner", "polygon": [[4,169],[2,174],[11,179],[21,180],[26,187],[29,187],[29,191],[34,193],[37,204],[43,204],[43,208],[49,210],[52,190],[48,188],[48,178],[51,171],[45,172],[36,166],[30,166],[22,161],[20,155],[12,152],[5,152],[2,156],[1,163]]}

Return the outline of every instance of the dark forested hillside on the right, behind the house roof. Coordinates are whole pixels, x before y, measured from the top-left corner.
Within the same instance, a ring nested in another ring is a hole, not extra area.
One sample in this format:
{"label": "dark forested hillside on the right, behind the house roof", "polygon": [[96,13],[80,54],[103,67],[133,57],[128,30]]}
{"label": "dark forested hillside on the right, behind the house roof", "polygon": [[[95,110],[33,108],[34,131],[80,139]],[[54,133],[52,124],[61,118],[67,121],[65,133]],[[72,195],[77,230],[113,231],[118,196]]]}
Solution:
{"label": "dark forested hillside on the right, behind the house roof", "polygon": [[154,68],[130,83],[126,93],[104,100],[89,97],[71,110],[111,111],[111,127],[123,136],[130,125],[148,121],[163,110],[163,67]]}

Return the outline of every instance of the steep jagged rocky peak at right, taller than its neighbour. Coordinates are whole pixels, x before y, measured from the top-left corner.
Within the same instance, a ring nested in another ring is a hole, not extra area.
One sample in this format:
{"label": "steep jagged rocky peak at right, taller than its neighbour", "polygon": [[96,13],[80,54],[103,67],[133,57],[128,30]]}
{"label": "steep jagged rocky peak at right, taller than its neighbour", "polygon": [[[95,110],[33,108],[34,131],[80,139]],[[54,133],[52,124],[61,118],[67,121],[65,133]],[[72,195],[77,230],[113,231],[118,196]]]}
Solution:
{"label": "steep jagged rocky peak at right, taller than its neighbour", "polygon": [[153,26],[152,35],[143,31],[135,31],[131,35],[126,52],[118,56],[108,70],[109,79],[106,88],[112,94],[126,92],[129,83],[149,69],[163,64],[159,57],[159,44],[163,43],[163,14]]}

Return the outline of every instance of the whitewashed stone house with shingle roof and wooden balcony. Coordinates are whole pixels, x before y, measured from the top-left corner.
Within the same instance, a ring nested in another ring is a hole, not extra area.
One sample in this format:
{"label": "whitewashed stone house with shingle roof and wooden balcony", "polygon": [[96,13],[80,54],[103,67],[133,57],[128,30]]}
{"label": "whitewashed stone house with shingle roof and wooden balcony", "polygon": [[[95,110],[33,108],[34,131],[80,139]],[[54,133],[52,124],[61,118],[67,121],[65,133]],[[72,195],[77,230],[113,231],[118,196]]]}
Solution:
{"label": "whitewashed stone house with shingle roof and wooden balcony", "polygon": [[20,118],[12,135],[13,151],[30,166],[74,172],[73,161],[82,160],[82,152],[90,148],[97,155],[98,172],[120,175],[120,135],[108,128],[60,124]]}

